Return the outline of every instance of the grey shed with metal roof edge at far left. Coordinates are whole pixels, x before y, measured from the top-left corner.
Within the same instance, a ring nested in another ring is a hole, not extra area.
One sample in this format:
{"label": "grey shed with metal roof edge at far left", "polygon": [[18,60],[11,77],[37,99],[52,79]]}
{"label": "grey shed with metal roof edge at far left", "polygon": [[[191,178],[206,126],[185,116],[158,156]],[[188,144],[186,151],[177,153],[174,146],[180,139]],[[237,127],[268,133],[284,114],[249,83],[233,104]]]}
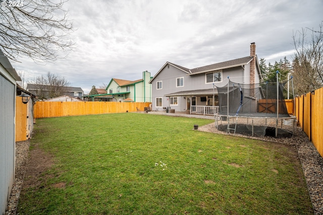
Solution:
{"label": "grey shed with metal roof edge at far left", "polygon": [[16,70],[0,49],[0,214],[15,181]]}

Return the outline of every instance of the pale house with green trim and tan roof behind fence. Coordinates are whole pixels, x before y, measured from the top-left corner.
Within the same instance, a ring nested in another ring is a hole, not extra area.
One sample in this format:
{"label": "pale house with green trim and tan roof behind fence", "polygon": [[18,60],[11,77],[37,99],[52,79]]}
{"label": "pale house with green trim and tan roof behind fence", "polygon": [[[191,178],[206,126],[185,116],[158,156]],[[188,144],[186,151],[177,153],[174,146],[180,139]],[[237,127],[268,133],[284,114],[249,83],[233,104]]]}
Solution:
{"label": "pale house with green trim and tan roof behind fence", "polygon": [[142,79],[136,81],[111,79],[106,94],[88,95],[89,101],[151,102],[150,79],[148,71],[143,71]]}

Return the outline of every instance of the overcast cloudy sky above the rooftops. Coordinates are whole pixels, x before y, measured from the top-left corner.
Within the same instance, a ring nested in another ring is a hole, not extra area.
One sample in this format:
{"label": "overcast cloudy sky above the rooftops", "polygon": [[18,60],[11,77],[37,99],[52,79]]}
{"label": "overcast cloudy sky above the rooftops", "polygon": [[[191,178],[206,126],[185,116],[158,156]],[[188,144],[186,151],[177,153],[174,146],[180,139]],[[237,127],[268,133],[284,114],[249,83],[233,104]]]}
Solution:
{"label": "overcast cloudy sky above the rooftops", "polygon": [[249,56],[251,42],[259,60],[291,61],[293,32],[323,21],[323,0],[70,0],[64,8],[77,49],[55,63],[12,64],[25,80],[50,71],[85,94],[112,78],[154,76],[167,61],[195,68]]}

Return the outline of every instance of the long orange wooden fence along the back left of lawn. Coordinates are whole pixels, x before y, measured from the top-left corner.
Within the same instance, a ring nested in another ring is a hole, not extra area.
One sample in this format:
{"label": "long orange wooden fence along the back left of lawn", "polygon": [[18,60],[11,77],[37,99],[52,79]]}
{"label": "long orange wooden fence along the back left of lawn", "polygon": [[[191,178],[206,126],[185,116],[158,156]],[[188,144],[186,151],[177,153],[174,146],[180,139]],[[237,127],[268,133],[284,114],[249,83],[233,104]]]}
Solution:
{"label": "long orange wooden fence along the back left of lawn", "polygon": [[34,118],[135,112],[150,102],[36,102]]}

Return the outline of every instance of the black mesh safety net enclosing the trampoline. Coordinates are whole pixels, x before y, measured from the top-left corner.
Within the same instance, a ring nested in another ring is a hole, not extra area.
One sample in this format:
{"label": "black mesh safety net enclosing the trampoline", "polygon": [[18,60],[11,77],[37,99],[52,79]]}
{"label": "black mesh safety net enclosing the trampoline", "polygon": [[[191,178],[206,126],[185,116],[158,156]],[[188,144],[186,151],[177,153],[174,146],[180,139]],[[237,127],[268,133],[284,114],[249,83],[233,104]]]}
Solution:
{"label": "black mesh safety net enclosing the trampoline", "polygon": [[[275,80],[252,85],[229,81],[226,86],[217,87],[217,89],[220,115],[277,117],[277,83]],[[279,83],[278,89],[279,117],[289,117],[283,96],[283,84]]]}

